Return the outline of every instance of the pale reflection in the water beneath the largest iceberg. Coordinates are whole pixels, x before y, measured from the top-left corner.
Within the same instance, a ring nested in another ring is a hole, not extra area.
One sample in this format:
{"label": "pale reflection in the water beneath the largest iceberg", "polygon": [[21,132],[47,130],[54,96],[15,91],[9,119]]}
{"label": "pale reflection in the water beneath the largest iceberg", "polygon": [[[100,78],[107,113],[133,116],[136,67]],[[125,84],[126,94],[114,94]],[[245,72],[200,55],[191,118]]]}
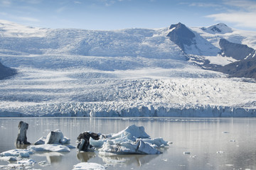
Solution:
{"label": "pale reflection in the water beneath the largest iceberg", "polygon": [[126,166],[134,164],[134,166],[142,166],[147,164],[152,159],[156,159],[159,154],[118,154],[118,155],[105,155],[99,154],[99,157],[102,158],[102,161],[105,164],[117,165],[125,164]]}

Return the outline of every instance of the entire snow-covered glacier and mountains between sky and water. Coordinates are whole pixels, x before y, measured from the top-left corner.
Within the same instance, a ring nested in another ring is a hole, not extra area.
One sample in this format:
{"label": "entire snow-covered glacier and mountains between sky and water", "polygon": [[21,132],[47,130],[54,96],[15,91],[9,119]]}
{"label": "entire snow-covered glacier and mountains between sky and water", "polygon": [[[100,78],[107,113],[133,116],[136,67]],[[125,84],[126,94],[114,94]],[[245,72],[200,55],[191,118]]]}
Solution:
{"label": "entire snow-covered glacier and mountains between sky and water", "polygon": [[0,81],[0,115],[256,115],[255,80],[225,69],[255,60],[256,32],[223,23],[79,30],[0,21],[0,38],[1,63],[18,72]]}

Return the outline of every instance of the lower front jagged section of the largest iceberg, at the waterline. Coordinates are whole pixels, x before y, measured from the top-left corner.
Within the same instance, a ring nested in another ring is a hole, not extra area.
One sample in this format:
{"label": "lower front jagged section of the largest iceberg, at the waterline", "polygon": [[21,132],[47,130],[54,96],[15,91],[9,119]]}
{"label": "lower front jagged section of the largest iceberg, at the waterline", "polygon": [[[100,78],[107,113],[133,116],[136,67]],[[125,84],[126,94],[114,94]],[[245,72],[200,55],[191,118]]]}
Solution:
{"label": "lower front jagged section of the largest iceberg, at the waterline", "polygon": [[136,142],[120,143],[114,143],[112,140],[108,140],[104,143],[102,148],[99,149],[99,152],[100,154],[161,154],[159,150],[139,139],[137,139]]}

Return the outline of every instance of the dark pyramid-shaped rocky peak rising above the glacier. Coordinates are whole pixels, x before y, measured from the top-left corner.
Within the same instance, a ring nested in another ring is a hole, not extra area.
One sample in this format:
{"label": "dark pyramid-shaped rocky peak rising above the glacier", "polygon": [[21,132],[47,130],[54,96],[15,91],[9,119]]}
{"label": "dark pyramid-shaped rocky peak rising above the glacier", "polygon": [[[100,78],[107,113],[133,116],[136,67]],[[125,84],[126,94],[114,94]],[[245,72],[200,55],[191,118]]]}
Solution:
{"label": "dark pyramid-shaped rocky peak rising above the glacier", "polygon": [[172,42],[178,45],[181,50],[184,51],[184,45],[192,45],[194,43],[193,38],[195,38],[196,35],[184,24],[172,24],[169,29],[173,30],[171,30],[171,32],[167,36]]}

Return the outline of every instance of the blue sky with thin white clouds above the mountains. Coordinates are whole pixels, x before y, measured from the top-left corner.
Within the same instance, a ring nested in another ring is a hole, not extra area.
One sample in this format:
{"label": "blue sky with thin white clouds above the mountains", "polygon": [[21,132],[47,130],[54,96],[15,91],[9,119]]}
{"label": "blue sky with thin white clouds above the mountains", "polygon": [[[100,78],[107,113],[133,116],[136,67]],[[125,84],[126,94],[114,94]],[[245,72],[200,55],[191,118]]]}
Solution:
{"label": "blue sky with thin white clouds above the mountains", "polygon": [[164,28],[172,23],[256,30],[256,0],[0,0],[0,20],[41,28]]}

